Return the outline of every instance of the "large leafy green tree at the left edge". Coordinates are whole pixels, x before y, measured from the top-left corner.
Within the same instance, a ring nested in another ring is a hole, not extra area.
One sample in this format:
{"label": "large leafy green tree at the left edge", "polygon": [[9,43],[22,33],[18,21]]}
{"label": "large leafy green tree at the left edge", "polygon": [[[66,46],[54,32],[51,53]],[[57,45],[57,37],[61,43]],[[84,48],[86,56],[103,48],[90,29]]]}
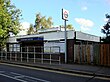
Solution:
{"label": "large leafy green tree at the left edge", "polygon": [[10,0],[0,0],[0,46],[5,45],[10,33],[19,32],[21,12]]}

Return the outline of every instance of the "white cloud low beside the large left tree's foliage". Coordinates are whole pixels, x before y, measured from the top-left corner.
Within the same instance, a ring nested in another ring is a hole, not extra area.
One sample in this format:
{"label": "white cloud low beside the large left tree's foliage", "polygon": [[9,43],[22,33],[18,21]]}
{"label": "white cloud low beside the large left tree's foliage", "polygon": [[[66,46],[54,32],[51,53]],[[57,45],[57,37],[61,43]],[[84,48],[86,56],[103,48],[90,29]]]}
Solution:
{"label": "white cloud low beside the large left tree's foliage", "polygon": [[20,27],[21,31],[18,33],[18,35],[26,35],[29,26],[30,26],[30,23],[22,22]]}

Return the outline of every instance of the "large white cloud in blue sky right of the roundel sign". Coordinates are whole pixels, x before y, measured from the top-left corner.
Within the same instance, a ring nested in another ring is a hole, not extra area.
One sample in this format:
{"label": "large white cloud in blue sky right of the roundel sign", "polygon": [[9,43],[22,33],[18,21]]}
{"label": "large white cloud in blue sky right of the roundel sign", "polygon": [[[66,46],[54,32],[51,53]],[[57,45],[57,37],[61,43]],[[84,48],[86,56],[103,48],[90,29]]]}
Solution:
{"label": "large white cloud in blue sky right of the roundel sign", "polygon": [[91,27],[94,26],[94,23],[91,20],[84,18],[75,18],[75,21],[80,25],[81,30],[88,31]]}

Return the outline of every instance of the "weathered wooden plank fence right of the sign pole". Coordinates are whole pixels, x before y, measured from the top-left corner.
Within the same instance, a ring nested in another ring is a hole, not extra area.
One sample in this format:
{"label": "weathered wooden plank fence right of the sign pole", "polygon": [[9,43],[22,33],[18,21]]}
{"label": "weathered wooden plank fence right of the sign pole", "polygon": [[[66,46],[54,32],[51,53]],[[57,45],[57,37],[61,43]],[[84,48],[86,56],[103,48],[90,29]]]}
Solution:
{"label": "weathered wooden plank fence right of the sign pole", "polygon": [[110,66],[110,44],[74,45],[74,62]]}

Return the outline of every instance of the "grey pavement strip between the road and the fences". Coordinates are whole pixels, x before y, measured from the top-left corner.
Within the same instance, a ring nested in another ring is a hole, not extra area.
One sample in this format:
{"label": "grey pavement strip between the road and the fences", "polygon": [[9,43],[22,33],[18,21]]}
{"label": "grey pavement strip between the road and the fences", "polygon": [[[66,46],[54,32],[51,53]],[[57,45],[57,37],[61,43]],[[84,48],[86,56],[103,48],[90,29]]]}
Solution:
{"label": "grey pavement strip between the road and the fences", "polygon": [[41,63],[24,63],[24,62],[10,62],[10,61],[5,61],[5,62],[1,61],[1,62],[48,69],[48,70],[62,71],[68,73],[110,78],[110,67],[105,67],[105,66],[94,66],[94,65],[84,65],[84,64],[83,65],[82,64],[41,64]]}

